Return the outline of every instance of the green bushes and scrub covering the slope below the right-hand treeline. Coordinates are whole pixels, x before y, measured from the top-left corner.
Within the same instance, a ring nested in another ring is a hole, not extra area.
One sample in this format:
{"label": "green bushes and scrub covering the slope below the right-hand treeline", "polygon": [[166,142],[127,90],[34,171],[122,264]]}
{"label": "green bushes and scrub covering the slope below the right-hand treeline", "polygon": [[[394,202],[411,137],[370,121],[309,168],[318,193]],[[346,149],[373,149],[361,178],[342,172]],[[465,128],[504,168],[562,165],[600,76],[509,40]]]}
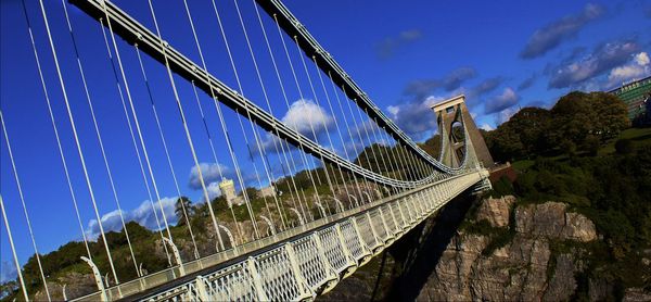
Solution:
{"label": "green bushes and scrub covering the slope below the right-hand treeline", "polygon": [[625,288],[639,287],[649,277],[651,272],[639,269],[639,252],[651,248],[651,149],[640,144],[627,152],[570,161],[538,158],[513,188],[519,202],[562,201],[595,223],[603,241],[552,247],[559,252],[585,250],[590,268],[583,277],[601,272]]}

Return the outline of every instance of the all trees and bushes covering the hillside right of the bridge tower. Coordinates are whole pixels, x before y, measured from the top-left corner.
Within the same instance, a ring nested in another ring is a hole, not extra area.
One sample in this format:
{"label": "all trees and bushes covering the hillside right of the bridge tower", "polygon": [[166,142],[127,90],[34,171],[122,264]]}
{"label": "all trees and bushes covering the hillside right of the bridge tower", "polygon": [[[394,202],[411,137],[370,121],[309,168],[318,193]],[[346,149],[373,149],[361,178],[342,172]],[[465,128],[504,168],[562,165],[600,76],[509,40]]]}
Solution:
{"label": "all trees and bushes covering the hillside right of the bridge tower", "polygon": [[[590,218],[603,238],[551,242],[552,253],[584,251],[587,269],[577,276],[578,300],[588,297],[588,279],[597,276],[612,280],[616,289],[644,288],[651,280],[651,272],[640,265],[651,248],[651,129],[626,129],[628,125],[621,100],[572,92],[549,111],[523,109],[486,135],[495,159],[516,160],[519,172],[513,184],[495,181],[492,194],[514,194],[516,205],[565,202]],[[508,238],[506,230],[483,231]]]}

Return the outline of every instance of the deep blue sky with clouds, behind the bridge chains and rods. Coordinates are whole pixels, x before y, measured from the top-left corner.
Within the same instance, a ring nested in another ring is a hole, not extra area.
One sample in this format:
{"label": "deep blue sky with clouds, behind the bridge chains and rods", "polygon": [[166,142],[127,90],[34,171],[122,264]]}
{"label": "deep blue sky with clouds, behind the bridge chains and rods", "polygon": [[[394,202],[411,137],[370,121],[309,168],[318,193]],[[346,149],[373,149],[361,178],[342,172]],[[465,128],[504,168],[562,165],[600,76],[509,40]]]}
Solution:
{"label": "deep blue sky with clouds, behind the bridge chains and rods", "polygon": [[[87,234],[97,236],[97,221],[93,222],[89,192],[76,154],[38,2],[26,2],[75,194],[80,204],[84,228]],[[44,2],[75,122],[79,127],[84,155],[91,172],[100,215],[103,216],[105,228],[116,229],[119,227],[116,203],[76,70],[74,49],[61,2]],[[153,21],[144,1],[115,2],[153,30]],[[218,1],[218,5],[242,89],[235,80],[213,8],[208,3],[209,1],[190,1],[208,70],[227,85],[267,109],[232,1]],[[312,136],[311,128],[315,128],[319,142],[332,147],[342,155],[368,144],[370,140],[366,138],[365,143],[358,140],[349,143],[350,138],[342,123],[344,118],[349,123],[357,122],[352,125],[353,135],[356,136],[355,130],[363,133],[362,129],[368,124],[368,121],[360,118],[363,114],[354,111],[354,115],[350,115],[347,104],[344,104],[342,113],[334,103],[335,96],[328,86],[330,84],[326,84],[330,89],[327,90],[329,95],[326,95],[318,83],[318,73],[314,65],[308,64],[308,73],[316,90],[312,93],[295,46],[284,37],[290,60],[298,75],[298,90],[278,32],[270,18],[261,12],[272,45],[272,54],[279,62],[279,72],[283,78],[281,86],[253,5],[250,1],[239,3],[273,114],[308,136]],[[458,93],[467,95],[477,125],[494,128],[521,106],[550,106],[560,96],[574,89],[604,90],[622,81],[651,74],[648,54],[651,52],[651,1],[409,1],[406,4],[337,0],[317,4],[314,1],[288,0],[285,3],[371,99],[418,140],[426,139],[435,131],[435,119],[429,105]],[[81,232],[72,207],[21,2],[2,1],[0,5],[1,105],[37,244],[41,252],[48,252],[67,240],[79,240]],[[154,9],[164,38],[200,63],[182,1],[156,1]],[[127,119],[106,56],[102,30],[95,21],[76,8],[68,7],[68,10],[125,216],[155,227]],[[118,48],[125,61],[125,72],[163,206],[166,213],[171,214],[169,211],[174,197],[177,196],[176,187],[167,166],[136,52],[119,39]],[[153,98],[181,193],[199,201],[202,190],[196,168],[193,168],[194,162],[190,156],[165,70],[146,55],[144,66],[154,91]],[[191,85],[178,77],[175,79],[188,115],[199,161],[202,163],[200,166],[208,183],[213,183],[210,192],[216,193],[214,181],[219,179],[219,172],[233,178],[234,165],[226,148],[215,108],[209,98],[200,91],[219,165],[207,142]],[[281,88],[286,90],[286,102]],[[343,95],[340,93],[339,97]],[[328,98],[331,98],[334,111],[330,111]],[[266,185],[263,163],[259,152],[255,150],[256,143],[250,124],[246,119],[243,121],[242,133],[238,115],[230,109],[221,109],[239,156],[238,164],[242,166],[244,181],[247,186]],[[263,131],[260,134],[260,148],[270,154],[272,178],[279,177],[282,168],[279,156],[273,152],[273,142],[278,141]],[[339,134],[343,134],[344,143],[339,142]],[[333,143],[330,143],[329,136]],[[250,152],[244,138],[248,140],[250,149],[254,149],[251,152],[253,162],[248,159]],[[8,206],[18,255],[21,262],[24,262],[34,250],[29,243],[3,140],[0,150],[0,188]],[[292,154],[299,161],[295,151]],[[308,166],[314,164],[307,163]],[[255,168],[260,172],[260,183],[257,181]],[[157,202],[157,199],[154,201]],[[5,277],[12,275],[13,269],[5,229],[2,228],[0,234],[0,270]]]}

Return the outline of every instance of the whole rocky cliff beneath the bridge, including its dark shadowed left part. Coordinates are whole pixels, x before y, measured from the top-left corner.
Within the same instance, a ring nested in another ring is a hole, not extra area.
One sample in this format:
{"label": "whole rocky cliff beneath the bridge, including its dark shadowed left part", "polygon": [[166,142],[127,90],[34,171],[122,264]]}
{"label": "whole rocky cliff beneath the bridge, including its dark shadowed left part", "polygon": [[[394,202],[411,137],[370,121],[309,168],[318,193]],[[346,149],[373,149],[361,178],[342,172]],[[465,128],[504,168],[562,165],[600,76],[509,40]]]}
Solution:
{"label": "whole rocky cliff beneath the bridge, including its dark shadowed left part", "polygon": [[[650,287],[616,281],[600,252],[609,243],[566,203],[488,198],[446,223],[457,204],[318,300],[651,301]],[[446,230],[452,232],[442,236]],[[651,251],[635,267],[650,269],[649,259]]]}

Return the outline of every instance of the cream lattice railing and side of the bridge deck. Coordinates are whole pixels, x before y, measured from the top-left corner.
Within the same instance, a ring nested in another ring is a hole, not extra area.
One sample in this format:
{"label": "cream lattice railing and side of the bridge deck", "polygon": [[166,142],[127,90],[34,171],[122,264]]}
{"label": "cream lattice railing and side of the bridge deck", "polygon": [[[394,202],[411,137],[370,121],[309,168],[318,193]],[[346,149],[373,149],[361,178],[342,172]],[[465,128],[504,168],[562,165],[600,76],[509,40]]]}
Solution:
{"label": "cream lattice railing and side of the bridge deck", "polygon": [[[353,273],[431,213],[486,177],[486,171],[469,172],[379,199],[183,263],[184,276],[177,265],[108,288],[106,293],[111,300],[148,301],[311,297],[332,288],[343,275]],[[197,282],[203,282],[204,289],[197,290]],[[95,292],[76,301],[95,301],[100,297],[101,293]]]}

